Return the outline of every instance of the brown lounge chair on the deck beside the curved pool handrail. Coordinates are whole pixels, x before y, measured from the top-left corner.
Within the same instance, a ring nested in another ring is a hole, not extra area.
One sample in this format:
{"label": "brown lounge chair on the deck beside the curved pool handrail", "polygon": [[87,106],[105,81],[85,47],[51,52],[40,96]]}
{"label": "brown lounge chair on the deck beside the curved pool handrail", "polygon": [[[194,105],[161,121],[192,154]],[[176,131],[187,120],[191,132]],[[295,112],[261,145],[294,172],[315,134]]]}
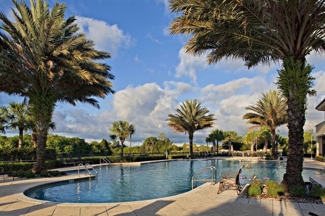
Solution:
{"label": "brown lounge chair on the deck beside the curved pool handrail", "polygon": [[222,172],[219,181],[218,194],[230,188],[235,188],[237,194],[241,192],[242,188],[239,182],[239,174],[242,172],[244,166],[241,166],[237,172]]}

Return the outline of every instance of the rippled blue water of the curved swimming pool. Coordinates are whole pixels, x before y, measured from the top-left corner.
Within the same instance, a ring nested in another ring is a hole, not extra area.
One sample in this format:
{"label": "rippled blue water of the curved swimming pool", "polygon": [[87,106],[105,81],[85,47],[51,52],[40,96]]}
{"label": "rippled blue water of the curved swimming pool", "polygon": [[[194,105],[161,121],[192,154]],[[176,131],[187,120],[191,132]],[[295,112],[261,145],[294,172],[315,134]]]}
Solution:
{"label": "rippled blue water of the curved swimming pool", "polygon": [[[217,177],[223,171],[237,171],[241,165],[231,160],[208,161],[169,161],[143,164],[141,166],[106,166],[97,167],[98,182],[89,181],[52,185],[40,188],[25,195],[35,199],[56,202],[103,203],[126,202],[155,199],[181,194],[191,190],[191,177],[207,166],[215,166]],[[243,168],[242,185],[251,182],[253,174],[257,179],[268,177],[282,181],[285,167],[278,167],[275,162],[251,162],[250,169]],[[315,174],[315,170],[304,169],[303,177]],[[211,172],[201,177],[211,178]],[[201,183],[203,184],[203,183]],[[199,184],[200,185],[200,184]]]}

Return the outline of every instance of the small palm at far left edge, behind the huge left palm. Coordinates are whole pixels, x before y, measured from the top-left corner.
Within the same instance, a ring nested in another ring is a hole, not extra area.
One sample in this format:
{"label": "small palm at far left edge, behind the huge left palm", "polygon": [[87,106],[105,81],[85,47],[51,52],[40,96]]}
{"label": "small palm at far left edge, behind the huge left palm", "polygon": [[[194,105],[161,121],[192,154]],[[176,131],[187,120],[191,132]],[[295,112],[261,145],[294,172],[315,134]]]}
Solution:
{"label": "small palm at far left edge, behind the huge left palm", "polygon": [[0,106],[0,113],[7,122],[6,128],[19,131],[18,148],[21,148],[24,130],[32,127],[30,107],[24,102],[10,101],[8,106]]}

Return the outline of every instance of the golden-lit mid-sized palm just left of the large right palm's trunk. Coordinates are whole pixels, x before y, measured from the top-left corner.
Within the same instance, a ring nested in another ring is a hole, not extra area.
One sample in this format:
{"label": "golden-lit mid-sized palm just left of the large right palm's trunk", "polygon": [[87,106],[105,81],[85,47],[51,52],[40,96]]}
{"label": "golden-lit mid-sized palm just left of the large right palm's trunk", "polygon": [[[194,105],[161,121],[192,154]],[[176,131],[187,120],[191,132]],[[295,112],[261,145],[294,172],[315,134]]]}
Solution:
{"label": "golden-lit mid-sized palm just left of the large right palm's trunk", "polygon": [[256,105],[246,106],[246,113],[243,119],[246,124],[253,124],[249,130],[261,127],[268,127],[271,130],[272,156],[275,157],[275,130],[277,127],[287,123],[287,108],[284,98],[278,91],[262,93],[263,97],[256,102]]}

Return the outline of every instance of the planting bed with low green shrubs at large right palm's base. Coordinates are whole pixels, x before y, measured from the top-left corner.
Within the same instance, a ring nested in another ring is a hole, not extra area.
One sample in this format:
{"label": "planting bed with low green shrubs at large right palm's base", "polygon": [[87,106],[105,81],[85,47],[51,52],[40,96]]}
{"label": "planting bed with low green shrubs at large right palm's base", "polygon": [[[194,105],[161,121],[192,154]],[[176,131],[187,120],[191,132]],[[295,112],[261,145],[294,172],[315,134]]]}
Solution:
{"label": "planting bed with low green shrubs at large right palm's base", "polygon": [[245,187],[240,198],[325,204],[325,189],[320,186],[314,186],[310,194],[306,194],[306,189],[302,186],[294,186],[289,193],[285,193],[277,182],[267,181],[266,185],[261,184],[262,181],[253,181]]}

